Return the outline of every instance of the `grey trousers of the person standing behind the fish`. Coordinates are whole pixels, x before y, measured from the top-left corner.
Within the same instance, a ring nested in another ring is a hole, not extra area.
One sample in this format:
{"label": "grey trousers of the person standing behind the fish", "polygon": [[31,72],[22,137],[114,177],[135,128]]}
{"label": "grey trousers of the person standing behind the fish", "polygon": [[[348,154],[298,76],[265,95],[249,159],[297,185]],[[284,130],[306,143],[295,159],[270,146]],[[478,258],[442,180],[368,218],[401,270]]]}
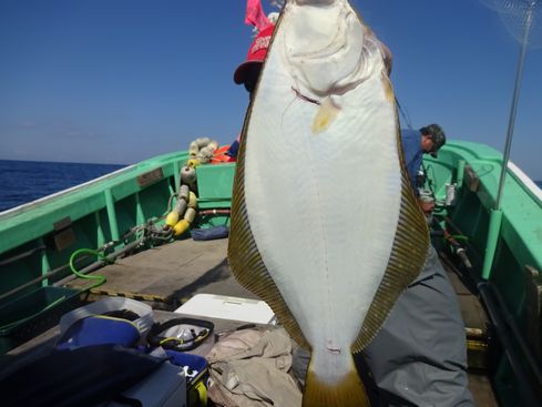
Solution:
{"label": "grey trousers of the person standing behind the fish", "polygon": [[[382,405],[473,406],[464,325],[432,246],[425,269],[399,297],[371,344],[356,357],[370,367]],[[296,374],[304,376],[307,363],[307,352],[294,353]]]}

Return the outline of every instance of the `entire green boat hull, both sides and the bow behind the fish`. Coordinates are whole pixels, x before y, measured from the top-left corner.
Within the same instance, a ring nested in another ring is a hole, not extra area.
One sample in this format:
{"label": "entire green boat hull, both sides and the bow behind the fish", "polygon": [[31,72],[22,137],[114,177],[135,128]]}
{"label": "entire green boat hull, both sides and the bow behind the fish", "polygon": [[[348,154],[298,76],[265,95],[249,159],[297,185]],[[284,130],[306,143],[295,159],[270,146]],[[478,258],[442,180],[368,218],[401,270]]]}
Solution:
{"label": "entire green boat hull, both sides and the bow behind the fish", "polygon": [[[17,326],[13,316],[10,319],[1,309],[13,307],[32,293],[52,288],[67,277],[71,273],[67,265],[76,250],[95,250],[109,242],[110,251],[122,250],[136,242],[137,234],[125,236],[135,226],[151,222],[162,227],[187,159],[187,152],[154,157],[0,213],[0,330],[9,326],[11,333]],[[501,211],[495,216],[501,162],[502,155],[487,145],[449,142],[438,159],[425,160],[426,187],[434,193],[440,227],[464,243],[472,268],[463,272],[473,283],[474,294],[480,294],[477,284],[485,281],[497,289],[523,342],[513,339],[513,346],[521,350],[526,344],[530,354],[520,353],[521,358],[534,358],[530,363],[540,367],[542,279],[538,272],[542,271],[542,201],[540,190],[512,167],[508,170]],[[191,227],[228,225],[234,170],[234,163],[197,167],[198,216]],[[451,193],[454,200],[447,205]],[[177,238],[188,236],[184,233]],[[447,240],[434,236],[433,244],[453,257]],[[95,258],[81,266],[91,261]],[[51,271],[57,273],[50,275]],[[17,318],[23,324],[40,315],[43,309],[39,308],[37,305],[37,309],[27,309]],[[492,346],[489,373],[495,394],[501,405],[514,406],[522,383],[518,383],[501,342]]]}

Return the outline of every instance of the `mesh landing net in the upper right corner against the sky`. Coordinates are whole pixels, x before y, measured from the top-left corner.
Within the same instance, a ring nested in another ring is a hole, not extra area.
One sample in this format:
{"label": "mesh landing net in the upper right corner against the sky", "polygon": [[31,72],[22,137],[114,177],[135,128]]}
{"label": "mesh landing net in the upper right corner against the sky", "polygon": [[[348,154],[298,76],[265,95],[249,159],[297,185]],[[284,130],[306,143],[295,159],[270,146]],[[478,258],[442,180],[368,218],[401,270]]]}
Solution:
{"label": "mesh landing net in the upper right corner against the sky", "polygon": [[542,48],[542,0],[480,0],[495,10],[507,30],[531,49]]}

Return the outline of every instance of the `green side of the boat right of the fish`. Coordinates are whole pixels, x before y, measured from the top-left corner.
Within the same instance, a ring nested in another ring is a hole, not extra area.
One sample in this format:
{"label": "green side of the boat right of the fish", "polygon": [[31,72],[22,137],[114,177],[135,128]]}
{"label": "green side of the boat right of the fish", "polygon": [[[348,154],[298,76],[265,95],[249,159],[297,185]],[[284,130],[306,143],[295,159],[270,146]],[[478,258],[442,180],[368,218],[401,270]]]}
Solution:
{"label": "green side of the boat right of the fish", "polygon": [[[501,323],[510,333],[509,338],[497,338],[490,353],[495,396],[502,406],[524,405],[520,391],[523,386],[532,385],[534,394],[541,391],[533,372],[542,367],[541,192],[519,169],[509,165],[501,207],[495,211],[502,154],[487,145],[449,142],[439,151],[438,160],[425,160],[425,167],[426,187],[434,191],[437,202],[444,202],[447,186],[456,184],[454,204],[440,207],[437,218],[452,233],[467,237],[472,268],[466,271],[466,278],[473,283],[474,294],[482,299],[485,299],[484,292],[475,287],[489,284],[504,313]],[[446,244],[441,238],[433,242]],[[484,303],[484,306],[489,305]],[[497,334],[494,325],[493,320],[488,328],[493,335]],[[509,342],[509,350],[504,348],[504,339]],[[530,384],[519,381],[512,367],[514,360],[507,356],[510,353],[518,355],[515,363],[534,367],[526,367],[525,377],[521,378]]]}

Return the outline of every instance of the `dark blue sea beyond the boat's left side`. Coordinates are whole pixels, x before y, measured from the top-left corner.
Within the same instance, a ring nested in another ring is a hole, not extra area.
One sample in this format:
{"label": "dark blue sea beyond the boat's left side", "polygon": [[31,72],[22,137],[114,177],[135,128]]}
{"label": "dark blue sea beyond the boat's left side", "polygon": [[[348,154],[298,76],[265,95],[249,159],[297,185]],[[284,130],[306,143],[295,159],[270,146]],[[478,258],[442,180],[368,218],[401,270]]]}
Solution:
{"label": "dark blue sea beyond the boat's left side", "polygon": [[119,164],[0,160],[0,212],[122,169]]}

